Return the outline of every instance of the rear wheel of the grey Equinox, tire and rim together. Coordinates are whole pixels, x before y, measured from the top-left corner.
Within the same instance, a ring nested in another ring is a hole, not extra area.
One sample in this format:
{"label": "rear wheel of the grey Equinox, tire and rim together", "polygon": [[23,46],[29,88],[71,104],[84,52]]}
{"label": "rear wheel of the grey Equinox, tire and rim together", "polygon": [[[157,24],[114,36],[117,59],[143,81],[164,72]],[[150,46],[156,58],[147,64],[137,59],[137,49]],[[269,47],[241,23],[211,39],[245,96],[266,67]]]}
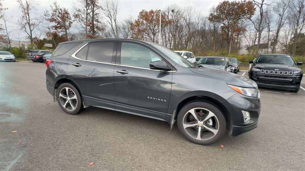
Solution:
{"label": "rear wheel of the grey Equinox, tire and rim together", "polygon": [[84,110],[80,92],[70,83],[61,84],[56,97],[59,106],[68,114],[74,115]]}

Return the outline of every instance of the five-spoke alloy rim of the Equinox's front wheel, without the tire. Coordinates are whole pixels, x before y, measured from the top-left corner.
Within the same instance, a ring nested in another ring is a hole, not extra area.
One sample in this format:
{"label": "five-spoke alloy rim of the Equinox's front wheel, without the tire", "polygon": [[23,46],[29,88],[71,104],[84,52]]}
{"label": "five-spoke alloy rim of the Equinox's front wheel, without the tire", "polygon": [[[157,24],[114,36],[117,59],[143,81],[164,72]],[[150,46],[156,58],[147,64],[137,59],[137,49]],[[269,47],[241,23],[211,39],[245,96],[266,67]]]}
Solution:
{"label": "five-spoke alloy rim of the Equinox's front wheel, without the tire", "polygon": [[209,140],[219,130],[216,115],[205,108],[194,108],[185,113],[183,118],[185,132],[196,140]]}

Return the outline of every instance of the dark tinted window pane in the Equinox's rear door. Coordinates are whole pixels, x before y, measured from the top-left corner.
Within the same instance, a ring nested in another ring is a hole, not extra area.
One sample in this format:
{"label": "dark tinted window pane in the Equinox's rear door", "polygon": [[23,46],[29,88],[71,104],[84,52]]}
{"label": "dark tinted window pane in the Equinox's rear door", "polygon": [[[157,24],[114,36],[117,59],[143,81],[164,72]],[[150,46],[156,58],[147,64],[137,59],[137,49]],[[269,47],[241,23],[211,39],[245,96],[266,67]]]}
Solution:
{"label": "dark tinted window pane in the Equinox's rear door", "polygon": [[114,48],[115,48],[115,42],[90,43],[87,60],[111,63]]}

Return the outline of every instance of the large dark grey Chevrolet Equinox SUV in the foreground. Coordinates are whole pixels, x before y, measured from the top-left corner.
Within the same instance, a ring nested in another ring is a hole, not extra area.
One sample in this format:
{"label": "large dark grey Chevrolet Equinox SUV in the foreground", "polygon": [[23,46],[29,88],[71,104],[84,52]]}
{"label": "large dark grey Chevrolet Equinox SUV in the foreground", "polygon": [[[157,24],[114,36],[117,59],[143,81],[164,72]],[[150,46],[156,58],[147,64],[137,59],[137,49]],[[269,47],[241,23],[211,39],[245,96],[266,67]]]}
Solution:
{"label": "large dark grey Chevrolet Equinox SUV in the foreground", "polygon": [[194,64],[159,44],[132,39],[60,43],[46,61],[46,85],[68,114],[96,106],[167,121],[201,145],[228,128],[257,127],[260,92],[252,80]]}

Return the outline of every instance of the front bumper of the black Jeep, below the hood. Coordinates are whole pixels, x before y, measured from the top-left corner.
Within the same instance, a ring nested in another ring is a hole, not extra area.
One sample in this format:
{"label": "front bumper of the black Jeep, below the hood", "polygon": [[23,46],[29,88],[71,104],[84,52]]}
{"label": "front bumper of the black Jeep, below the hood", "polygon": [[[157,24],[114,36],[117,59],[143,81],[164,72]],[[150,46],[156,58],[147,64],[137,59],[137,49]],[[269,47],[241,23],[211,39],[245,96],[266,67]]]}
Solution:
{"label": "front bumper of the black Jeep, below the hood", "polygon": [[250,79],[255,81],[259,87],[295,90],[300,87],[302,74],[272,75],[250,71]]}

